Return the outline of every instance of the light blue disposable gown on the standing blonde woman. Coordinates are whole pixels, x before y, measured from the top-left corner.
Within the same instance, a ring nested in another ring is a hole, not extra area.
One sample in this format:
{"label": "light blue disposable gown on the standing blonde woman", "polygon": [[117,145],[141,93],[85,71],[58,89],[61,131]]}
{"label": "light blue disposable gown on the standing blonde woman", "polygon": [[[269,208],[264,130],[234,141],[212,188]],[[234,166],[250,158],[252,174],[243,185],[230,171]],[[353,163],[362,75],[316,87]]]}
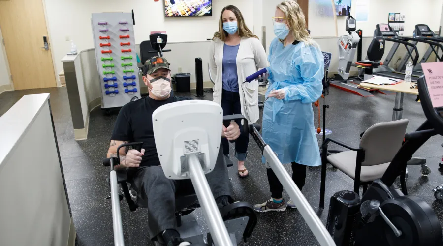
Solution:
{"label": "light blue disposable gown on the standing blonde woman", "polygon": [[[323,55],[317,45],[303,42],[286,47],[276,38],[269,49],[269,86],[284,89],[285,98],[268,98],[263,109],[263,139],[283,164],[295,161],[307,166],[321,164],[314,127],[312,103],[322,93]],[[263,158],[263,162],[264,162]]]}

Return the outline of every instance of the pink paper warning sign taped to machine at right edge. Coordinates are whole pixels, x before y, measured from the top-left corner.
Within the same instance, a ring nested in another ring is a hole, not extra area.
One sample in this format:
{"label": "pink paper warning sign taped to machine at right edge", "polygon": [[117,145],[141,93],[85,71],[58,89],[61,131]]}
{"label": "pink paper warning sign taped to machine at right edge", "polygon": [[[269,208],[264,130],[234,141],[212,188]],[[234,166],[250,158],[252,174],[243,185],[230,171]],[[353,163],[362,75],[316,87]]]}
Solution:
{"label": "pink paper warning sign taped to machine at right edge", "polygon": [[443,62],[421,63],[434,108],[443,107]]}

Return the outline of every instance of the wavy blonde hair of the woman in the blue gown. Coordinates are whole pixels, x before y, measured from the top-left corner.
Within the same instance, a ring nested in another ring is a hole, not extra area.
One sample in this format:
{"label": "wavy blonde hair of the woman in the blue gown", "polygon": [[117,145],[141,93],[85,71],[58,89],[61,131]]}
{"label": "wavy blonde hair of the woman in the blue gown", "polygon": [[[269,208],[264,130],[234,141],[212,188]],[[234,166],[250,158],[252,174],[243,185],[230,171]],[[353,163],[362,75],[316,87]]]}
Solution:
{"label": "wavy blonde hair of the woman in the blue gown", "polygon": [[295,40],[304,42],[306,45],[315,45],[306,28],[305,15],[295,0],[285,0],[277,5],[277,8],[285,13],[289,30],[292,31]]}

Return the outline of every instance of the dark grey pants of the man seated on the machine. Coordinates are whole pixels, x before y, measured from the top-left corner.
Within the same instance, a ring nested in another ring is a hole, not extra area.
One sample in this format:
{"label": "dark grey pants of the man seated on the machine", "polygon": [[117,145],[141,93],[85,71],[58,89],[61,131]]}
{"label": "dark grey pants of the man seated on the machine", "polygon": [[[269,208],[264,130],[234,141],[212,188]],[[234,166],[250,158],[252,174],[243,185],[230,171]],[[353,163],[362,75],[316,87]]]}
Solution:
{"label": "dark grey pants of the man seated on the machine", "polygon": [[[206,175],[206,179],[214,198],[229,196],[232,200],[226,162],[221,150],[214,170]],[[141,207],[148,208],[148,229],[151,240],[166,229],[176,229],[175,194],[176,191],[180,193],[180,189],[192,187],[190,179],[170,180],[166,178],[160,166],[147,166],[137,169],[133,184],[137,191],[137,203]],[[197,200],[189,206],[196,203]]]}

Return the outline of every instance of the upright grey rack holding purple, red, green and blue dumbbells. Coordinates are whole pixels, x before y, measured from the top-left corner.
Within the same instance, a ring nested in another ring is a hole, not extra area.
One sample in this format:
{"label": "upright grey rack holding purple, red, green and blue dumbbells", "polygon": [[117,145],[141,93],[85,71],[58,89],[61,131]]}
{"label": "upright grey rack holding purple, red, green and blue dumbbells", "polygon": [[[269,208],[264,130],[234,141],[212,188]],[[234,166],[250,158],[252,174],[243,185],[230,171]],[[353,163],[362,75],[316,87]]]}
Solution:
{"label": "upright grey rack holding purple, red, green and blue dumbbells", "polygon": [[102,109],[141,98],[131,13],[96,13],[91,18]]}

